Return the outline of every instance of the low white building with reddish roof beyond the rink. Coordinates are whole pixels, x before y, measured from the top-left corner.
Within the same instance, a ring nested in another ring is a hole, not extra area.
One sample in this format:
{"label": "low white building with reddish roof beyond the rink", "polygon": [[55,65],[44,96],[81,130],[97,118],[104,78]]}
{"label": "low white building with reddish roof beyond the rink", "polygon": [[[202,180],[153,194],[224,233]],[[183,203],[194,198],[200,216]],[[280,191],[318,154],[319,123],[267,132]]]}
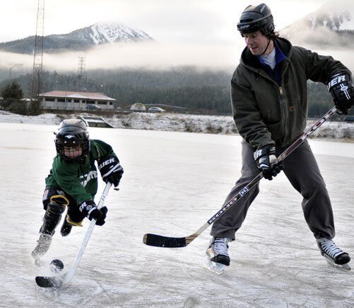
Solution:
{"label": "low white building with reddish roof beyond the rink", "polygon": [[50,91],[41,93],[39,97],[44,109],[86,110],[88,104],[94,104],[100,107],[98,109],[107,110],[114,109],[115,101],[105,94],[93,92]]}

